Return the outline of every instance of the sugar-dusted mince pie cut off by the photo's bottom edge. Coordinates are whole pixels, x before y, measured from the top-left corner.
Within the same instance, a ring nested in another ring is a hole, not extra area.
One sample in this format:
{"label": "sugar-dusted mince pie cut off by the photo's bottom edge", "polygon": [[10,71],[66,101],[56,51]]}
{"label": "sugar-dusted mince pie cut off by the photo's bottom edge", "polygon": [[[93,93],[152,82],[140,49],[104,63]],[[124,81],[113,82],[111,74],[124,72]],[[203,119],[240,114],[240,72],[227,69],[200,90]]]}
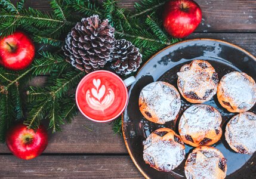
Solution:
{"label": "sugar-dusted mince pie cut off by the photo's bottom edge", "polygon": [[199,146],[187,157],[185,175],[188,179],[224,179],[227,173],[227,159],[220,150]]}

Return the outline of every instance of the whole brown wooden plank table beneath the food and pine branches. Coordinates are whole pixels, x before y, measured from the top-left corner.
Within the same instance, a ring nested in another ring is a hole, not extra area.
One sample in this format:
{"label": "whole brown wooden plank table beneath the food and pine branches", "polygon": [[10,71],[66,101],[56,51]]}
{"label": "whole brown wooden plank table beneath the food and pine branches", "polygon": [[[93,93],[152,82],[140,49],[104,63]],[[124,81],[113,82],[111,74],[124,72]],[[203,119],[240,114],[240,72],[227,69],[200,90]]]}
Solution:
{"label": "whole brown wooden plank table beneath the food and pine branches", "polygon": [[[49,9],[49,0],[27,0],[39,10]],[[132,9],[136,0],[122,0]],[[231,42],[256,55],[255,0],[196,0],[202,22],[187,39],[213,38]],[[43,84],[36,78],[34,84]],[[88,131],[83,125],[92,129]],[[81,114],[63,132],[50,134],[45,152],[31,161],[17,159],[0,144],[0,177],[4,178],[143,178],[132,163],[123,138],[113,134],[112,125],[88,121]]]}

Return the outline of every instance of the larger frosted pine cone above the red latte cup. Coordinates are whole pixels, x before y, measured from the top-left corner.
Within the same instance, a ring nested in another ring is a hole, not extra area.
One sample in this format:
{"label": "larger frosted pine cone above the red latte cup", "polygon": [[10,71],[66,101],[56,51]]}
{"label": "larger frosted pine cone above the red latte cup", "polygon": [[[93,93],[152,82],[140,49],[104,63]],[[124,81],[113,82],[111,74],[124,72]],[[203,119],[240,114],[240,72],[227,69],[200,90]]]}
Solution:
{"label": "larger frosted pine cone above the red latte cup", "polygon": [[97,15],[82,18],[67,35],[63,47],[66,61],[90,73],[104,67],[115,45],[115,29]]}

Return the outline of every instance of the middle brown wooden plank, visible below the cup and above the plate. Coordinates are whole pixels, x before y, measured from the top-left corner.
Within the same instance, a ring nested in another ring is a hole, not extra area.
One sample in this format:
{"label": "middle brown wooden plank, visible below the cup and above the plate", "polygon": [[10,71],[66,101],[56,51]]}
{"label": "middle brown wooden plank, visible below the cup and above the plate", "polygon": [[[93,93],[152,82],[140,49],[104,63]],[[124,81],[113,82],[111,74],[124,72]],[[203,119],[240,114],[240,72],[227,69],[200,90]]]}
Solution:
{"label": "middle brown wooden plank, visible below the cup and above the plate", "polygon": [[[256,35],[254,33],[193,33],[187,39],[213,38],[238,45],[256,56]],[[42,85],[45,77],[39,76],[32,85]],[[92,129],[89,131],[86,125]],[[112,125],[91,122],[79,114],[72,124],[63,125],[63,131],[51,134],[45,153],[127,153],[124,140],[113,134]],[[0,144],[0,153],[10,153],[5,144]]]}

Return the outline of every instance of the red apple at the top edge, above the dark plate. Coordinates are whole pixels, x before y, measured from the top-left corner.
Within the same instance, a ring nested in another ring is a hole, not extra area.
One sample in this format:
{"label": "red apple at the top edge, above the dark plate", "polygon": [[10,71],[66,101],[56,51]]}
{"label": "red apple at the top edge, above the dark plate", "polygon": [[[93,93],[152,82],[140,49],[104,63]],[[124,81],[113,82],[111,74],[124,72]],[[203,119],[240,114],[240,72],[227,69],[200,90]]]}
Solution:
{"label": "red apple at the top edge, above the dark plate", "polygon": [[164,6],[164,27],[175,38],[190,35],[198,27],[201,19],[201,8],[195,1],[171,0]]}

